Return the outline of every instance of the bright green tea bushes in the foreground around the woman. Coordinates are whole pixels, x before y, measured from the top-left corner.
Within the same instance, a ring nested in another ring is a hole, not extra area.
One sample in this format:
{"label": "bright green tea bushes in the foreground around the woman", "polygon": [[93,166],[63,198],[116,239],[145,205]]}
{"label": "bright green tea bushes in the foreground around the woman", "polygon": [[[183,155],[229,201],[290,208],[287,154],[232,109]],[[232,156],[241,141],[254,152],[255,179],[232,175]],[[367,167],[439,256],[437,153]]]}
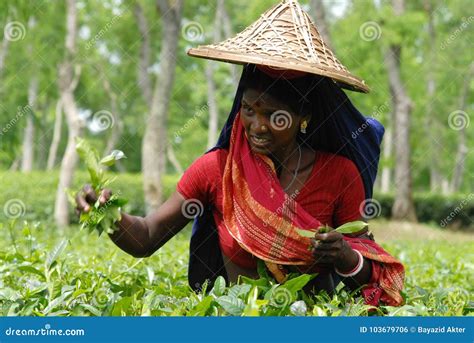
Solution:
{"label": "bright green tea bushes in the foreground around the woman", "polygon": [[402,307],[373,309],[344,289],[313,297],[300,276],[277,285],[263,276],[206,294],[187,284],[189,227],[145,259],[118,249],[106,235],[70,227],[0,224],[2,316],[463,316],[474,313],[472,235],[374,221],[376,239],[406,266]]}

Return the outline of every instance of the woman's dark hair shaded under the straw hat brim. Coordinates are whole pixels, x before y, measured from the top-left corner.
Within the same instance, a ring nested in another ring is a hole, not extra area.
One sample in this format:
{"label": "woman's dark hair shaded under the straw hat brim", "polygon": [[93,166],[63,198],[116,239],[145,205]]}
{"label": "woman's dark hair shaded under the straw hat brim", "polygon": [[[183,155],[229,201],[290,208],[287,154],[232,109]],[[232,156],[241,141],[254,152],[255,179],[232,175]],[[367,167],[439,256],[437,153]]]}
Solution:
{"label": "woman's dark hair shaded under the straw hat brim", "polygon": [[261,71],[255,65],[248,65],[242,78],[243,89],[255,89],[267,93],[276,99],[283,99],[297,115],[312,115],[315,92],[323,77],[308,74],[297,78],[285,78],[283,72],[274,78]]}

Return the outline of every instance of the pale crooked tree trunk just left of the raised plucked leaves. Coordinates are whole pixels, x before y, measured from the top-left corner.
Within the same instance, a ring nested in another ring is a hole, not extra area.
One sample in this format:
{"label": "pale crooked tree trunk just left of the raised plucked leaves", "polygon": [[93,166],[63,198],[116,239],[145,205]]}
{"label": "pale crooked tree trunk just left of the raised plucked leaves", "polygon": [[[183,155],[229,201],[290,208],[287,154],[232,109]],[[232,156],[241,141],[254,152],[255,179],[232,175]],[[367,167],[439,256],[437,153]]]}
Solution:
{"label": "pale crooked tree trunk just left of the raised plucked leaves", "polygon": [[81,136],[83,130],[83,123],[78,116],[74,99],[74,89],[77,85],[77,78],[79,77],[79,72],[76,71],[75,76],[77,78],[74,78],[73,70],[77,33],[77,10],[74,0],[67,0],[66,11],[66,49],[64,61],[59,66],[58,84],[61,102],[68,125],[68,140],[66,151],[61,163],[54,208],[54,218],[58,227],[64,227],[69,224],[68,200],[65,190],[72,184],[74,170],[78,160],[75,139],[76,137]]}

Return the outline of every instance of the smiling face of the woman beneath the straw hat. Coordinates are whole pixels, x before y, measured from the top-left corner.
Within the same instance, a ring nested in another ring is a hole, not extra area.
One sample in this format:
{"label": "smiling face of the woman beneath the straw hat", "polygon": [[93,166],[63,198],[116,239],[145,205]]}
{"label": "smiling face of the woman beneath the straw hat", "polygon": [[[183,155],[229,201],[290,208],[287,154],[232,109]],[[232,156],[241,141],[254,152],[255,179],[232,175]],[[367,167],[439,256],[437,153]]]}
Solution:
{"label": "smiling face of the woman beneath the straw hat", "polygon": [[250,147],[264,155],[293,149],[301,122],[308,120],[296,115],[284,99],[255,89],[244,91],[240,118]]}

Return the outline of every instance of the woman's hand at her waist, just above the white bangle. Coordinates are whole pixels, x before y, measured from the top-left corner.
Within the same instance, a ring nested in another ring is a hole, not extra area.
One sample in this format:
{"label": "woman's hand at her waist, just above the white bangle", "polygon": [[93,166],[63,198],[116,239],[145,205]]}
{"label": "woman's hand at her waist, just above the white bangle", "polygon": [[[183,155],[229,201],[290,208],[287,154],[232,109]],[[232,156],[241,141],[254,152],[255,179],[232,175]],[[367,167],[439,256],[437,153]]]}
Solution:
{"label": "woman's hand at her waist, just above the white bangle", "polygon": [[311,245],[317,264],[332,264],[339,270],[350,270],[357,263],[356,252],[339,232],[316,234]]}

